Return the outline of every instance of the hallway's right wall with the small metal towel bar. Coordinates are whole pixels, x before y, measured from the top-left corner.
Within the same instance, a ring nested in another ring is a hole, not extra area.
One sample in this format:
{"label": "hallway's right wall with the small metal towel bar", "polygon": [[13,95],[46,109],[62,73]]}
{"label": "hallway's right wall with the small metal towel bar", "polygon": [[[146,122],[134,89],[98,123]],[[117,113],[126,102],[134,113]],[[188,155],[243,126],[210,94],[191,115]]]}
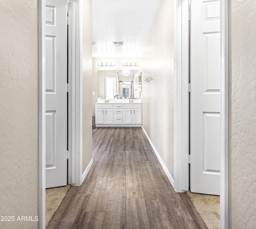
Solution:
{"label": "hallway's right wall with the small metal towel bar", "polygon": [[[173,177],[173,1],[162,0],[141,58],[142,125]],[[146,78],[154,77],[150,82]]]}

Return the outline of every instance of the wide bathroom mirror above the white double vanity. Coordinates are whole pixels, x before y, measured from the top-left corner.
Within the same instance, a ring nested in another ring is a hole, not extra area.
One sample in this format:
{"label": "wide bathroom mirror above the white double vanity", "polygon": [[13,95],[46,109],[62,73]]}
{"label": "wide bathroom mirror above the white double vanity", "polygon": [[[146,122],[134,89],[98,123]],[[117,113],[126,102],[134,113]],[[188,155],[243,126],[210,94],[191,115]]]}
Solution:
{"label": "wide bathroom mirror above the white double vanity", "polygon": [[98,97],[139,98],[139,70],[98,70]]}

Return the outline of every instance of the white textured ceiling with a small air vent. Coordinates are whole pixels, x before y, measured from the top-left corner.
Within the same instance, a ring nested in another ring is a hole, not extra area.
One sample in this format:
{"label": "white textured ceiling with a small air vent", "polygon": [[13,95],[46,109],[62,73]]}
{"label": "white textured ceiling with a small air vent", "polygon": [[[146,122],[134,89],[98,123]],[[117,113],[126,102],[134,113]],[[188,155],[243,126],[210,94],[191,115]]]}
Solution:
{"label": "white textured ceiling with a small air vent", "polygon": [[[140,57],[161,0],[93,0],[93,57]],[[114,46],[123,41],[124,46]]]}

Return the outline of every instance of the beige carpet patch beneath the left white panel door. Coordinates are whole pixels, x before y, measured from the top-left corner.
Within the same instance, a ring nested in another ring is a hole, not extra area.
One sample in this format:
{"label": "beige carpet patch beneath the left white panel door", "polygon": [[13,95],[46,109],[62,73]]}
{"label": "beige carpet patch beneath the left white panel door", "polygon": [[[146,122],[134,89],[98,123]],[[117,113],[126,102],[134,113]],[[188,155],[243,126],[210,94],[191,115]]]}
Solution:
{"label": "beige carpet patch beneath the left white panel door", "polygon": [[52,219],[52,216],[57,211],[60,203],[70,189],[70,185],[63,187],[46,189],[46,226]]}

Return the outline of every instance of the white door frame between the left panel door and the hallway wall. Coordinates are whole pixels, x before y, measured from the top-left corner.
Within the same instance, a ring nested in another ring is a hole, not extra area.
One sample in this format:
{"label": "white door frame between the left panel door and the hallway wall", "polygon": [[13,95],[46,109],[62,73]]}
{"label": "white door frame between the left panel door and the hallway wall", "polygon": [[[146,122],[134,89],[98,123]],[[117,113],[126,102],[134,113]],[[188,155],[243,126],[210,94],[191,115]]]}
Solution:
{"label": "white door frame between the left panel door and the hallway wall", "polygon": [[[67,0],[73,3],[70,28],[68,30],[68,83],[71,90],[68,94],[68,150],[71,160],[68,160],[68,183],[79,186],[82,183],[82,1]],[[73,20],[74,19],[74,20]],[[72,77],[74,76],[74,77]],[[80,153],[81,152],[81,153]]]}

